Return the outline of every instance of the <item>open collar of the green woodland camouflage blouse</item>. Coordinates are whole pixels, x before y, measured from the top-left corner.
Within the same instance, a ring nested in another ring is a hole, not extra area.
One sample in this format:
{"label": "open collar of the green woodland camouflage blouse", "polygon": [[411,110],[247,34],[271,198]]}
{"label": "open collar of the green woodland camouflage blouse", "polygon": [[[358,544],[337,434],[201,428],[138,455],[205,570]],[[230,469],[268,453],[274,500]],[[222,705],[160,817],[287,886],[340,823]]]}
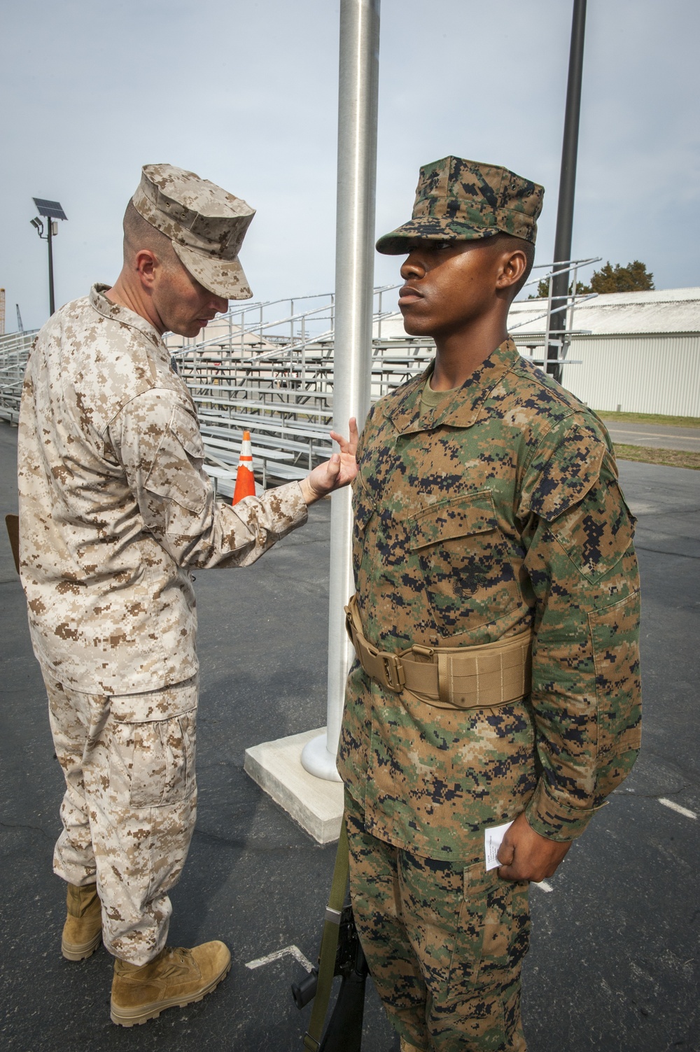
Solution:
{"label": "open collar of the green woodland camouflage blouse", "polygon": [[431,406],[421,411],[421,393],[425,381],[435,368],[433,361],[420,377],[406,384],[403,394],[386,416],[400,434],[429,431],[443,424],[452,427],[471,427],[476,423],[488,393],[513,368],[519,357],[514,341],[508,337],[464,381],[453,398],[446,400],[446,404]]}

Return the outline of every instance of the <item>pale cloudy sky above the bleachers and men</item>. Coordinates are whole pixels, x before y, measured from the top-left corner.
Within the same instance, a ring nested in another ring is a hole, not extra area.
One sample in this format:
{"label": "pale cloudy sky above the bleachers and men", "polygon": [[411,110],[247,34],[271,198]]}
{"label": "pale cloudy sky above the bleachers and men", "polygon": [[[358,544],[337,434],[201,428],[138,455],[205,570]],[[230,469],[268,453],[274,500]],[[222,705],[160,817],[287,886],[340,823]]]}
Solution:
{"label": "pale cloudy sky above the bleachers and men", "polygon": [[[48,315],[32,198],[68,217],[57,305],[113,282],[143,164],[197,171],[257,209],[255,300],[334,287],[338,0],[22,0],[0,16],[0,286],[6,331]],[[553,257],[573,0],[383,0],[377,236],[449,154],[545,187]],[[697,0],[588,0],[573,255],[700,285]],[[399,280],[375,257],[375,284]],[[588,269],[588,272],[592,268]],[[581,275],[585,277],[585,272]]]}

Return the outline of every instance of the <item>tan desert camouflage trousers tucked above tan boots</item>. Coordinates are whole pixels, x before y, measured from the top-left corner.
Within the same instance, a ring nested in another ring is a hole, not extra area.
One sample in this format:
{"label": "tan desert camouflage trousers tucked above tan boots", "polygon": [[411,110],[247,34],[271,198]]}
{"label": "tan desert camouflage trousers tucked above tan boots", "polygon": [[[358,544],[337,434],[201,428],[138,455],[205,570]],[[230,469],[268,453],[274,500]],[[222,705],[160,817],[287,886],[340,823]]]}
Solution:
{"label": "tan desert camouflage trousers tucked above tan boots", "polygon": [[97,881],[105,947],[144,965],[165,945],[195,828],[197,680],[113,696],[44,682],[66,783],[54,872]]}

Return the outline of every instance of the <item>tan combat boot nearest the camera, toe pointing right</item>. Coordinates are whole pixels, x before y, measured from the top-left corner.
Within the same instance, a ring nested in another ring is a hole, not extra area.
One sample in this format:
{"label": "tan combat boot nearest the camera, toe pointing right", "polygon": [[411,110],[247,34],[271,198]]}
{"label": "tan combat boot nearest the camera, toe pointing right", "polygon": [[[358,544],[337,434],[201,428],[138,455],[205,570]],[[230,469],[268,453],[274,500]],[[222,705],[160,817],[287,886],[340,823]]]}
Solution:
{"label": "tan combat boot nearest the camera, toe pointing right", "polygon": [[120,1027],[155,1019],[166,1008],[201,1000],[227,974],[231,953],[223,943],[203,943],[192,950],[165,947],[146,965],[115,960],[111,1018]]}

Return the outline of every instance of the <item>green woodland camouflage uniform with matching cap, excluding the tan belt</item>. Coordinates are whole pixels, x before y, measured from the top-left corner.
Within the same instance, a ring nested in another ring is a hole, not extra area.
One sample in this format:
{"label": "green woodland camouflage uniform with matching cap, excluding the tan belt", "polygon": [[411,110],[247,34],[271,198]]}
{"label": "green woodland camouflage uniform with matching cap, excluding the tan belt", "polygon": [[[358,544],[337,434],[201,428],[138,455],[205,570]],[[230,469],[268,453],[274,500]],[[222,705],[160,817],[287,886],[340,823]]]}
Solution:
{"label": "green woodland camouflage uniform with matching cap, excluding the tan belt", "polygon": [[[414,219],[377,247],[499,231],[532,243],[542,193],[446,158],[421,169]],[[434,364],[381,399],[360,438],[362,631],[401,654],[532,627],[532,692],[494,708],[437,707],[354,664],[339,754],[351,890],[402,1048],[522,1052],[527,882],[486,871],[484,830],[524,811],[541,837],[569,842],[632,768],[634,519],[600,420],[511,339],[446,394],[429,389]]]}

